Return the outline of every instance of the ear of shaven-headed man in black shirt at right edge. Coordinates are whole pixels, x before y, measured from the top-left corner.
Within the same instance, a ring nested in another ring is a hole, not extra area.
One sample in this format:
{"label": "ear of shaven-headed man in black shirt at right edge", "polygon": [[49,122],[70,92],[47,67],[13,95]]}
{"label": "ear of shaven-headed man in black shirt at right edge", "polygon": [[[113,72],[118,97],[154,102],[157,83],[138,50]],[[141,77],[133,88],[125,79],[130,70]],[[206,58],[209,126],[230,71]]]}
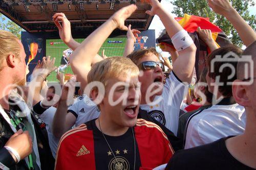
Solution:
{"label": "ear of shaven-headed man in black shirt at right edge", "polygon": [[249,106],[250,100],[246,93],[246,85],[239,85],[241,80],[235,80],[232,85],[233,98],[241,106]]}

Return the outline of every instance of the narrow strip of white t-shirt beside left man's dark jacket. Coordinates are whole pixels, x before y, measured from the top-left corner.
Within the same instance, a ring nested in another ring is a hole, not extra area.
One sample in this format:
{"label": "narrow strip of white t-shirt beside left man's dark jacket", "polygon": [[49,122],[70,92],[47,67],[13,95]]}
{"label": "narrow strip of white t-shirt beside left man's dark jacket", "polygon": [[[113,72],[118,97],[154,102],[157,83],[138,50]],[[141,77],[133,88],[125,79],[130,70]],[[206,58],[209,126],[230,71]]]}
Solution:
{"label": "narrow strip of white t-shirt beside left man's dark jacket", "polygon": [[55,107],[50,107],[49,109],[47,109],[46,111],[44,111],[42,114],[39,115],[42,121],[46,124],[49,145],[54,158],[56,157],[56,152],[57,152],[58,143],[59,143],[59,139],[56,138],[52,132],[52,122],[53,122],[53,118],[56,113],[56,110],[57,109]]}

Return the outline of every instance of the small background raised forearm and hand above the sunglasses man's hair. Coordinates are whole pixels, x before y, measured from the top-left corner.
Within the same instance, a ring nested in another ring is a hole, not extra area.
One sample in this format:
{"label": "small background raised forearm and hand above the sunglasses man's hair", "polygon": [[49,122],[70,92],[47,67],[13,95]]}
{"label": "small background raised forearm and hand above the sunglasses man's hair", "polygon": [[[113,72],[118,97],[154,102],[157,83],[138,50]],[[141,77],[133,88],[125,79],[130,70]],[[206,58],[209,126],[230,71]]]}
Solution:
{"label": "small background raised forearm and hand above the sunglasses man's hair", "polygon": [[138,37],[138,34],[140,34],[140,31],[138,30],[131,30],[131,25],[129,25],[127,30],[127,41],[123,52],[123,57],[127,57],[129,54],[131,54],[134,50],[134,43],[136,42],[136,38]]}

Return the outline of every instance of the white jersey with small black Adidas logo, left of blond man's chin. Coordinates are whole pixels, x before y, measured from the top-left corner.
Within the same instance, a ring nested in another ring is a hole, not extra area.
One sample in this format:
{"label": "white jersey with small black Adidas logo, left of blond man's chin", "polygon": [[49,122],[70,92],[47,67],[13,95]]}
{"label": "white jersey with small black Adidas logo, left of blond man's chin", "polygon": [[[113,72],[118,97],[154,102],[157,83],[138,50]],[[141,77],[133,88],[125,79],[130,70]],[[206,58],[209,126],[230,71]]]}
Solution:
{"label": "white jersey with small black Adidas logo, left of blond man's chin", "polygon": [[76,116],[76,127],[98,118],[100,114],[98,106],[85,94],[79,96],[77,101],[69,107],[67,112],[71,112]]}

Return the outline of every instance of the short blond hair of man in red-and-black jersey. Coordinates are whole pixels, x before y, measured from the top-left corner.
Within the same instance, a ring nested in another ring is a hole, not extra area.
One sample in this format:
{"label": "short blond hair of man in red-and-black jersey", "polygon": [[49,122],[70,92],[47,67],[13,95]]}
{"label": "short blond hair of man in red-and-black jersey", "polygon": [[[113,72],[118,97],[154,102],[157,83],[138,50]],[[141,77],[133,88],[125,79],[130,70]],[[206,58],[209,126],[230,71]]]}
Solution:
{"label": "short blond hair of man in red-and-black jersey", "polygon": [[108,79],[118,78],[120,75],[139,76],[139,68],[126,57],[109,57],[95,63],[87,76],[88,83],[99,81],[104,86]]}

